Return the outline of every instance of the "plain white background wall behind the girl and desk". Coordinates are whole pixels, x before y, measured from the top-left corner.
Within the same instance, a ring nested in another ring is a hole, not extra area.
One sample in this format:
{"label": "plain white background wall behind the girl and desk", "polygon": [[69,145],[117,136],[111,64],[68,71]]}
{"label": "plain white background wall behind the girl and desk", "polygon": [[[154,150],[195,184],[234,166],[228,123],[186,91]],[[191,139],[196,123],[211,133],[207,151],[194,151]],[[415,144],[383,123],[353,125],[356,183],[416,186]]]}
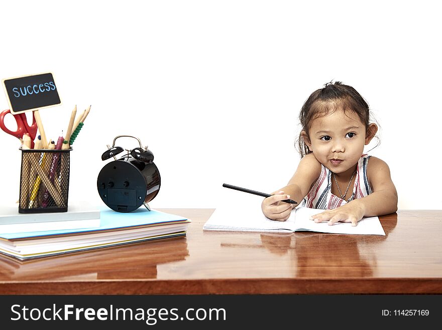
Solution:
{"label": "plain white background wall behind the girl and desk", "polygon": [[[71,153],[70,201],[102,203],[100,156],[121,134],[155,155],[162,186],[152,207],[217,207],[224,182],[271,192],[299,162],[302,103],[339,80],[380,124],[381,145],[370,154],[390,166],[399,208],[440,209],[436,4],[2,2],[0,78],[54,73],[63,104],[40,111],[54,140],[75,104],[78,112],[92,105]],[[8,108],[4,93],[0,107]],[[15,202],[19,141],[0,132],[0,145],[0,199]]]}

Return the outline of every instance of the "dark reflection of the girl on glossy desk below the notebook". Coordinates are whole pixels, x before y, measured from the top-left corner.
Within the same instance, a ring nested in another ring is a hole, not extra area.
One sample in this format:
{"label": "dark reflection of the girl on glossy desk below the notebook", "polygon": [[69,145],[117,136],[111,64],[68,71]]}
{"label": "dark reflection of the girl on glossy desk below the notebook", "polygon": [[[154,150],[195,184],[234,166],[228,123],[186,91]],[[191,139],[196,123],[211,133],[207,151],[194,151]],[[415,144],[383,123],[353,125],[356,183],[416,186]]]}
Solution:
{"label": "dark reflection of the girl on glossy desk below the notebook", "polygon": [[376,245],[387,239],[396,224],[395,213],[388,222],[384,221],[385,236],[366,235],[362,239],[362,236],[316,232],[264,233],[260,234],[261,244],[229,240],[230,243],[221,242],[221,247],[226,248],[226,254],[231,254],[232,248],[266,248],[276,256],[285,256],[293,276],[299,278],[368,277],[376,268]]}

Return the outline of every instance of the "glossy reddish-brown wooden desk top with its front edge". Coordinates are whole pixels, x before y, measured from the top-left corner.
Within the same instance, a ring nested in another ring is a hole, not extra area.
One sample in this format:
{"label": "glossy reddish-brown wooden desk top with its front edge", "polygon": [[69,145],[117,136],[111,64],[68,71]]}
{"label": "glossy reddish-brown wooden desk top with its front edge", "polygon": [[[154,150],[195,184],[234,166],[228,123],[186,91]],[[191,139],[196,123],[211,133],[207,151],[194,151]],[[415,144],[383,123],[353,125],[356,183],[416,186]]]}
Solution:
{"label": "glossy reddish-brown wooden desk top with its front edge", "polygon": [[0,294],[442,293],[442,210],[381,217],[386,236],[203,232],[19,262],[0,256]]}

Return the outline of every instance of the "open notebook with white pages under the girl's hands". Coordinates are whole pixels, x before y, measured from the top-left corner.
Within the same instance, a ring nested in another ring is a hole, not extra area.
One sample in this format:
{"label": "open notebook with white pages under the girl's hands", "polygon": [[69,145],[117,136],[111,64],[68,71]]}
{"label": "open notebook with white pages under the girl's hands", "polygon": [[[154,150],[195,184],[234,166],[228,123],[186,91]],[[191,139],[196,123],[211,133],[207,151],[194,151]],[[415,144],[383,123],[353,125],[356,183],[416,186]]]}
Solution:
{"label": "open notebook with white pages under the girl's hands", "polygon": [[[247,203],[246,203],[247,204]],[[323,210],[298,207],[292,210],[287,221],[273,221],[264,216],[261,211],[261,202],[253,205],[241,205],[241,209],[230,206],[216,208],[208,221],[204,224],[206,231],[233,231],[233,232],[271,232],[291,233],[296,231],[311,231],[334,234],[356,235],[385,235],[377,216],[364,217],[358,226],[350,223],[337,223],[329,226],[328,223],[315,223],[310,215],[318,214]]]}

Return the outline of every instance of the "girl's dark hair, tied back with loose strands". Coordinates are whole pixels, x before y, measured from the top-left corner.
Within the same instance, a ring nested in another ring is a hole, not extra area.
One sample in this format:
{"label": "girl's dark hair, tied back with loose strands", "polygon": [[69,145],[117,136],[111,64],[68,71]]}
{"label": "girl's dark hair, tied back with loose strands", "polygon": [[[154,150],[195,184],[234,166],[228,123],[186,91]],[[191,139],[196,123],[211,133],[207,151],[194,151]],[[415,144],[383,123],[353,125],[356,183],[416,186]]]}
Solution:
{"label": "girl's dark hair, tied back with loose strands", "polygon": [[310,130],[311,122],[319,117],[325,116],[329,113],[341,109],[344,111],[352,111],[358,115],[361,122],[366,127],[368,133],[368,126],[370,124],[370,108],[364,97],[359,94],[355,88],[349,85],[344,85],[341,81],[335,83],[328,82],[324,88],[320,88],[311,93],[301,108],[299,114],[299,121],[301,122],[301,132],[295,142],[301,158],[307,154],[311,154],[305,144],[302,131],[305,132],[307,138]]}

